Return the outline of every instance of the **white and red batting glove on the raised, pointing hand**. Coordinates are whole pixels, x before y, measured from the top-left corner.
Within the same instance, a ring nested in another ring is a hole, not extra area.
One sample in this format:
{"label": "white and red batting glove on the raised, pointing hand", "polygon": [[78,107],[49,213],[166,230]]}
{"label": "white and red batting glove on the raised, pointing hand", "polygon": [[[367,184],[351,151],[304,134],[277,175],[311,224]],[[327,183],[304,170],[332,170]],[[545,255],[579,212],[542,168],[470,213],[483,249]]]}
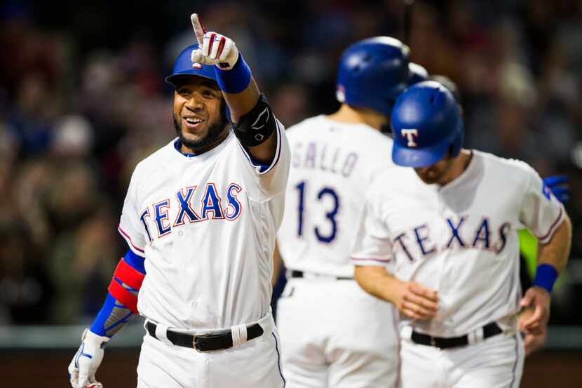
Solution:
{"label": "white and red batting glove on the raised, pointing hand", "polygon": [[216,65],[222,70],[232,69],[238,60],[238,48],[236,48],[234,41],[216,32],[206,32],[197,13],[193,13],[190,20],[199,47],[192,51],[192,63]]}

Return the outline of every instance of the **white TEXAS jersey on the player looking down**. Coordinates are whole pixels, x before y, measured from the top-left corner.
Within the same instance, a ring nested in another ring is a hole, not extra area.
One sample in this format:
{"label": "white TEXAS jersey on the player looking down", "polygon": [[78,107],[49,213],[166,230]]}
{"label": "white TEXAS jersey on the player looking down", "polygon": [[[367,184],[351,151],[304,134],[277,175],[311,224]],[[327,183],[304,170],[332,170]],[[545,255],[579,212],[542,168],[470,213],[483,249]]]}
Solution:
{"label": "white TEXAS jersey on the player looking down", "polygon": [[473,151],[445,186],[395,167],[366,196],[356,265],[385,265],[398,279],[438,290],[438,315],[404,325],[433,336],[464,335],[497,321],[515,328],[521,296],[517,231],[548,242],[564,208],[522,161]]}

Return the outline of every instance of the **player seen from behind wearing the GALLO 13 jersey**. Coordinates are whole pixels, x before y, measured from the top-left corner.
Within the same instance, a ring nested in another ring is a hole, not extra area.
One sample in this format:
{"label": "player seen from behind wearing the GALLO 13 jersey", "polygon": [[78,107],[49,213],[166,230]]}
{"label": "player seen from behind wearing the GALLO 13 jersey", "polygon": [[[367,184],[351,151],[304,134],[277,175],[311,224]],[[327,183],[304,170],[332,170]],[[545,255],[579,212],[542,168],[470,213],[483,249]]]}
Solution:
{"label": "player seen from behind wearing the GALLO 13 jersey", "polygon": [[348,47],[337,74],[339,111],[287,130],[292,152],[278,246],[287,285],[277,323],[287,387],[392,387],[395,309],[353,280],[349,249],[365,189],[391,167],[381,134],[396,96],[426,76],[387,36]]}

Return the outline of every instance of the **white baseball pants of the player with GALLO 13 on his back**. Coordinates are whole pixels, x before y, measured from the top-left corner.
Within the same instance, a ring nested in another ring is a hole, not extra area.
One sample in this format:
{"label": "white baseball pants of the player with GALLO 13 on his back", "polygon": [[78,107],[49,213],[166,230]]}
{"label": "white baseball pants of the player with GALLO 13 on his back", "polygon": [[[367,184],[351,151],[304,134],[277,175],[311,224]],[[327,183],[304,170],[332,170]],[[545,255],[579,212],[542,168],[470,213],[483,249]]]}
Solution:
{"label": "white baseball pants of the player with GALLO 13 on his back", "polygon": [[395,387],[395,310],[356,281],[290,279],[277,323],[287,388]]}

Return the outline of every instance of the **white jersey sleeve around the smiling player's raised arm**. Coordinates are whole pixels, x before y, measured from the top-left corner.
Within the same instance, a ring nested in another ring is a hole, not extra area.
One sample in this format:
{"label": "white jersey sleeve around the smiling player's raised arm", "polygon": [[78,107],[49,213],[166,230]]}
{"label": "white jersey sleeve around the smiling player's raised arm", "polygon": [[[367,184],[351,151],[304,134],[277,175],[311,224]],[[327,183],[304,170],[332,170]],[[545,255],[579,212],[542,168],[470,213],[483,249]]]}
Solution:
{"label": "white jersey sleeve around the smiling player's raised arm", "polygon": [[[258,189],[260,199],[271,199],[285,191],[290,168],[290,148],[285,134],[285,128],[280,121],[275,120],[277,129],[277,149],[275,157],[269,165],[262,165],[252,160],[249,152],[240,143],[241,164],[246,171],[245,176]],[[258,198],[257,198],[258,199]]]}

